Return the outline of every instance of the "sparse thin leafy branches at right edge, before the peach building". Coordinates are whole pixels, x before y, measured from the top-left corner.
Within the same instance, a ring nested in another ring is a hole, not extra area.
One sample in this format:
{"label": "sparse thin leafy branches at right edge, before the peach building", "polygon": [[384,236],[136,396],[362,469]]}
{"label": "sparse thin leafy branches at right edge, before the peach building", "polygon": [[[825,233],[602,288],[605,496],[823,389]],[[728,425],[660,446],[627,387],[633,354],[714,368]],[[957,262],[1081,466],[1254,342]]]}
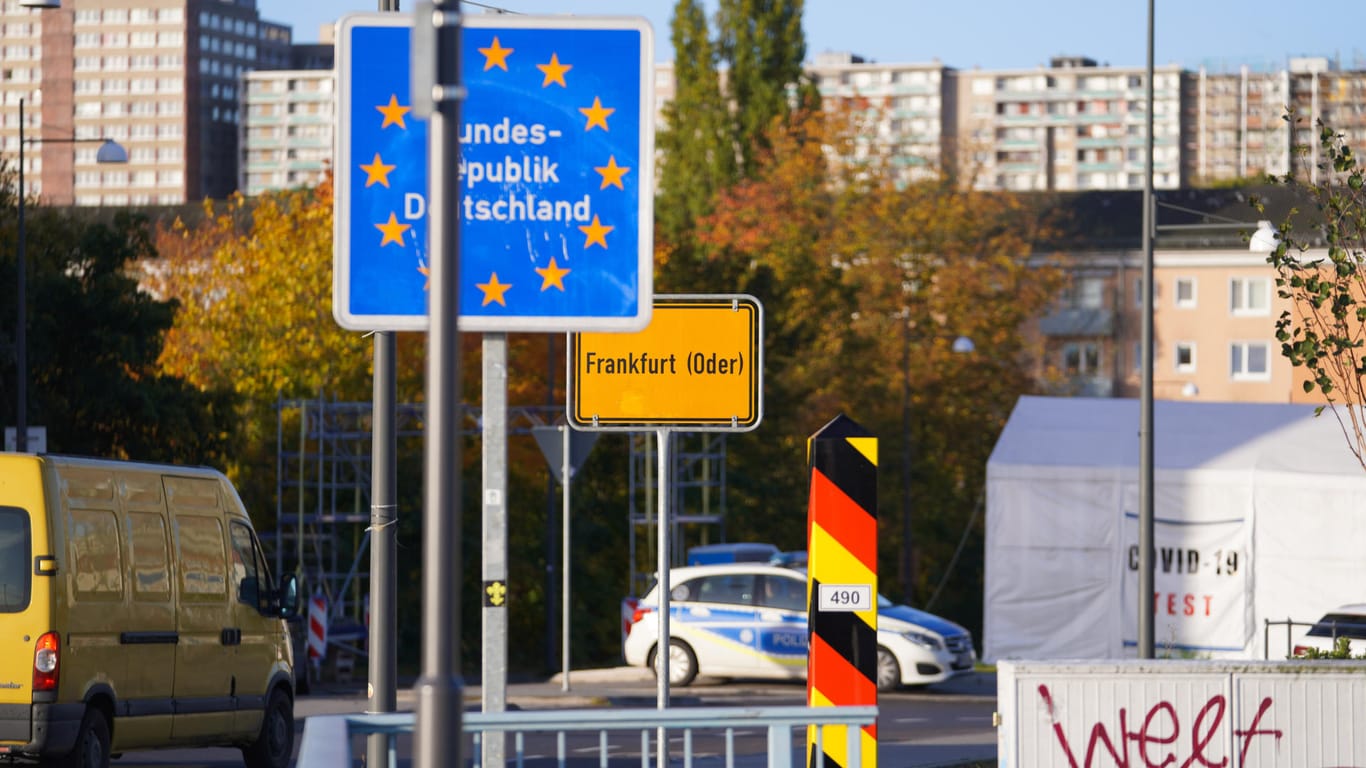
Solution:
{"label": "sparse thin leafy branches at right edge, before the peach building", "polygon": [[[1366,174],[1341,133],[1322,122],[1317,127],[1318,180],[1294,168],[1272,179],[1317,209],[1307,223],[1292,209],[1266,260],[1276,269],[1277,295],[1291,301],[1276,318],[1276,338],[1281,355],[1303,369],[1305,392],[1322,395],[1366,467]],[[1261,200],[1253,205],[1265,212]],[[1306,256],[1320,246],[1326,256]]]}

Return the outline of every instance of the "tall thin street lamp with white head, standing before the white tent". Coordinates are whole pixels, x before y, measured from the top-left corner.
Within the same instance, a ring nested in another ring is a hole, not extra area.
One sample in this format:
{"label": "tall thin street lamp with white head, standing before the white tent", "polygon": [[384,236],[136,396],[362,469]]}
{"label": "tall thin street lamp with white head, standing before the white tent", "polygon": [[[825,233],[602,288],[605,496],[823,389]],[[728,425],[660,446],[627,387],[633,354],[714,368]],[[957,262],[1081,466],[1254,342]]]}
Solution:
{"label": "tall thin street lamp with white head, standing before the white tent", "polygon": [[[1153,552],[1154,552],[1154,517],[1153,517],[1153,235],[1158,231],[1173,231],[1184,228],[1240,228],[1249,230],[1251,224],[1223,219],[1208,213],[1202,216],[1221,219],[1223,224],[1188,224],[1157,227],[1157,205],[1162,208],[1179,206],[1169,204],[1156,204],[1153,198],[1153,0],[1147,0],[1147,113],[1143,116],[1147,123],[1145,137],[1145,168],[1143,168],[1143,324],[1141,338],[1142,379],[1139,387],[1139,448],[1138,448],[1138,657],[1153,657]],[[1249,247],[1257,253],[1266,253],[1276,249],[1276,231],[1270,221],[1258,221],[1257,231],[1249,242]]]}

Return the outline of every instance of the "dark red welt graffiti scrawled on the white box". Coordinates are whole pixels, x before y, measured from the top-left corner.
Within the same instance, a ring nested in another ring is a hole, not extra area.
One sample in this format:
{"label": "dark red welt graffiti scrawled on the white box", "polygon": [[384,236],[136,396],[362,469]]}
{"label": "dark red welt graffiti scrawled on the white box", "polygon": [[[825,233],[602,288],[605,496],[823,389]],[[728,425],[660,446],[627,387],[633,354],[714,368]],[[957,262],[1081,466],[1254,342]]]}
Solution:
{"label": "dark red welt graffiti scrawled on the white box", "polygon": [[[1057,737],[1057,745],[1063,748],[1063,754],[1067,757],[1067,764],[1071,768],[1091,768],[1097,765],[1093,760],[1098,754],[1102,754],[1101,750],[1104,750],[1104,754],[1109,754],[1109,758],[1119,768],[1191,768],[1194,765],[1228,768],[1229,765],[1228,757],[1220,757],[1218,760],[1209,757],[1214,735],[1224,724],[1224,715],[1228,713],[1228,700],[1223,694],[1212,696],[1205,702],[1195,715],[1190,732],[1184,738],[1182,734],[1180,713],[1171,701],[1160,701],[1150,707],[1137,730],[1130,730],[1128,709],[1120,707],[1119,730],[1115,737],[1111,737],[1105,723],[1097,722],[1093,724],[1090,735],[1086,738],[1086,754],[1081,763],[1076,761],[1076,753],[1072,752],[1072,742],[1067,738],[1063,723],[1057,719],[1053,709],[1053,694],[1048,690],[1046,685],[1038,686],[1038,696],[1044,700],[1048,717],[1053,722],[1053,734]],[[1254,738],[1273,737],[1276,741],[1280,741],[1280,730],[1261,727],[1262,715],[1270,711],[1270,697],[1262,698],[1257,715],[1253,716],[1253,723],[1247,728],[1233,730],[1233,737],[1242,742],[1239,748],[1239,765],[1246,763],[1247,750],[1251,748]],[[1138,753],[1137,761],[1130,760],[1131,752]],[[1182,760],[1183,756],[1184,760]]]}

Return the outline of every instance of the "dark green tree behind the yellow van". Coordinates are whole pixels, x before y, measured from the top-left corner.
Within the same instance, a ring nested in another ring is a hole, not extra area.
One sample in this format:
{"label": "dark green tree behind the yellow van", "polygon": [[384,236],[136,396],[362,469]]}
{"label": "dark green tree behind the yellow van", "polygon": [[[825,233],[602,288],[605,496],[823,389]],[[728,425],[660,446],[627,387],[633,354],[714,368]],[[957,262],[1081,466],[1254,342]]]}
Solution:
{"label": "dark green tree behind the yellow van", "polygon": [[[8,183],[0,204],[14,205]],[[152,253],[150,224],[128,212],[26,206],[27,417],[48,430],[48,450],[142,461],[221,465],[231,439],[231,394],[199,391],[157,369],[175,302],[138,286],[135,264]],[[7,219],[10,230],[15,219]],[[18,232],[10,230],[10,242]],[[0,273],[14,275],[18,249]],[[16,295],[0,295],[0,331],[14,338]],[[5,358],[4,392],[16,366]],[[0,413],[14,424],[16,403]]]}

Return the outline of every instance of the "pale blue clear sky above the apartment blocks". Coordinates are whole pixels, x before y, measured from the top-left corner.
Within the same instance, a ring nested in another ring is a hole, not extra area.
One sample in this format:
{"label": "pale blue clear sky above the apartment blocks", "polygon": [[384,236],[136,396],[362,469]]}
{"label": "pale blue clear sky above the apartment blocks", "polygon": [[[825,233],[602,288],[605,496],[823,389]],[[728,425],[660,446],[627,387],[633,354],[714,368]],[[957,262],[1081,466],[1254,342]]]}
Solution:
{"label": "pale blue clear sky above the apartment blocks", "polygon": [[[705,0],[709,12],[716,0]],[[639,15],[654,27],[656,60],[671,61],[675,0],[479,0],[466,14]],[[1290,57],[1326,56],[1366,70],[1366,3],[1314,0],[1154,0],[1154,63],[1210,71],[1283,68]],[[294,27],[295,42],[317,42],[318,27],[380,0],[257,0],[261,16]],[[399,0],[411,11],[415,0]],[[1048,66],[1053,56],[1100,64],[1147,61],[1143,0],[806,0],[807,59],[826,51],[882,63],[940,63],[959,70]]]}

